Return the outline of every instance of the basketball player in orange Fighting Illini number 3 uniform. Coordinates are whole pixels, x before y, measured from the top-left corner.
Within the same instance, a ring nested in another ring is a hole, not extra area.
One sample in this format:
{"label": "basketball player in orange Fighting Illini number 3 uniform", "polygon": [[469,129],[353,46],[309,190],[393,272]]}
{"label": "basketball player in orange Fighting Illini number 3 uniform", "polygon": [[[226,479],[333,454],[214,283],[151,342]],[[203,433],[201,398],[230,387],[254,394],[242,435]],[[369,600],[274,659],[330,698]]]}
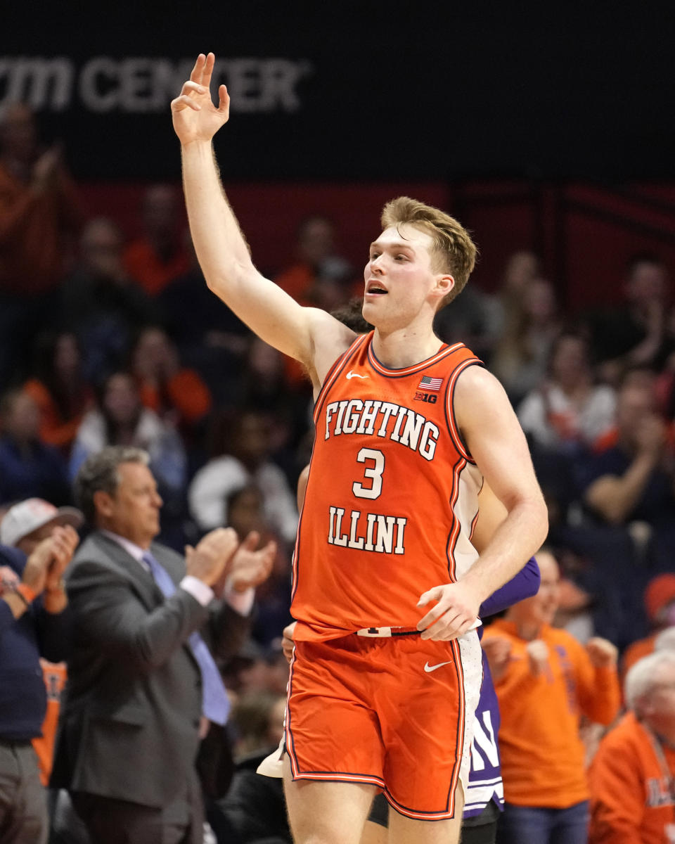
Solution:
{"label": "basketball player in orange Fighting Illini number 3 uniform", "polygon": [[[298,844],[357,844],[375,792],[393,844],[456,842],[480,684],[480,603],[543,543],[546,508],[498,381],[435,312],[473,269],[456,220],[408,198],[370,245],[359,336],[303,308],[251,262],[213,159],[229,117],[200,55],[171,104],[186,206],[208,286],[305,365],[316,443],[294,554],[295,653],[284,775]],[[386,143],[386,122],[377,130]],[[486,479],[508,513],[478,557]],[[429,821],[435,821],[430,823]]]}

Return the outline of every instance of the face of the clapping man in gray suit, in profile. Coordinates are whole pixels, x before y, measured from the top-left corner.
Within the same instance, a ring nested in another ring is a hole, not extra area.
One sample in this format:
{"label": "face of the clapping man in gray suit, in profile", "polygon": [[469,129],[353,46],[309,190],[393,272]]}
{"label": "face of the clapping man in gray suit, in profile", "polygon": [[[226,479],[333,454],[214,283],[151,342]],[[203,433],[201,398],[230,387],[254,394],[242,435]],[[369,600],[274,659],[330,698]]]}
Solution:
{"label": "face of the clapping man in gray suit, in profile", "polygon": [[96,526],[148,548],[159,533],[162,506],[153,474],[143,463],[121,463],[117,476],[113,495],[103,490],[94,493]]}

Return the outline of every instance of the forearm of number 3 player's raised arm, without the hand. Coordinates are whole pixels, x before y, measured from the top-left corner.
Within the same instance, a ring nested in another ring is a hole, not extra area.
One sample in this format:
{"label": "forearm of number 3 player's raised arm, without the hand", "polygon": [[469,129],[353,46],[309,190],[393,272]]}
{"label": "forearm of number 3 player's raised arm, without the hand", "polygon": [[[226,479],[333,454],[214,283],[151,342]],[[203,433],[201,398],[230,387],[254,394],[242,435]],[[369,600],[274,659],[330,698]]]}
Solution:
{"label": "forearm of number 3 player's raised arm, without the hand", "polygon": [[224,195],[211,144],[193,141],[181,152],[187,217],[197,258],[209,286],[227,295],[229,286],[253,270],[248,246]]}

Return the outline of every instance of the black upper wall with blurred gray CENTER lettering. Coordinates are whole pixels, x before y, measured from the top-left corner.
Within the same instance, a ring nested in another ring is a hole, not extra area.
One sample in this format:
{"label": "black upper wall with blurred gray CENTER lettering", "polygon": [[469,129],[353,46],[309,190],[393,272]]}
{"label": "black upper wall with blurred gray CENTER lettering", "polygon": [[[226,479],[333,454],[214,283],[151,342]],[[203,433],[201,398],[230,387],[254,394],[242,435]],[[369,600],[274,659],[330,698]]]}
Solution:
{"label": "black upper wall with blurred gray CENTER lettering", "polygon": [[674,35],[659,3],[2,3],[0,103],[81,179],[175,178],[213,50],[229,178],[672,178]]}

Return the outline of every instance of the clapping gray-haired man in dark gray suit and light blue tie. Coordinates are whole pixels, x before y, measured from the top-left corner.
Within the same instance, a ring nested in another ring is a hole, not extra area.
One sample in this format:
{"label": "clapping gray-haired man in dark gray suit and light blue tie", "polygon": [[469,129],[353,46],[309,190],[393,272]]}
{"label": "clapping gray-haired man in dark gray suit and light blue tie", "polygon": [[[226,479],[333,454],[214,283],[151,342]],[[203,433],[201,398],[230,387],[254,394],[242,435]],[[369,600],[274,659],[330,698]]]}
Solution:
{"label": "clapping gray-haired man in dark gray suit and light blue tie", "polygon": [[162,500],[140,449],[92,455],[75,492],[94,532],[67,572],[75,632],[51,784],[96,844],[202,844],[195,758],[206,719],[229,709],[211,652],[246,636],[273,544],[253,551],[222,527],[185,559],[155,543]]}

